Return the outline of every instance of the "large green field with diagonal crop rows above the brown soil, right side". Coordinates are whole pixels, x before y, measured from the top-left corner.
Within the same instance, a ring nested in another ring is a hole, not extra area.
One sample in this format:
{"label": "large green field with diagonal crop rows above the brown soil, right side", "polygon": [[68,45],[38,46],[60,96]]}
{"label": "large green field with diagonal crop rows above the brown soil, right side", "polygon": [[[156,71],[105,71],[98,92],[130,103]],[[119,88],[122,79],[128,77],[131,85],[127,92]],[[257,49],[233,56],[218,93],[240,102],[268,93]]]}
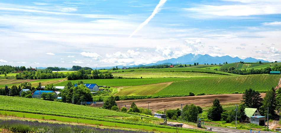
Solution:
{"label": "large green field with diagonal crop rows above the brown soil, right side", "polygon": [[154,95],[172,95],[192,93],[234,93],[243,92],[248,88],[254,90],[269,90],[276,87],[281,75],[243,75],[233,77],[221,77],[213,79],[200,79],[173,82],[168,87]]}

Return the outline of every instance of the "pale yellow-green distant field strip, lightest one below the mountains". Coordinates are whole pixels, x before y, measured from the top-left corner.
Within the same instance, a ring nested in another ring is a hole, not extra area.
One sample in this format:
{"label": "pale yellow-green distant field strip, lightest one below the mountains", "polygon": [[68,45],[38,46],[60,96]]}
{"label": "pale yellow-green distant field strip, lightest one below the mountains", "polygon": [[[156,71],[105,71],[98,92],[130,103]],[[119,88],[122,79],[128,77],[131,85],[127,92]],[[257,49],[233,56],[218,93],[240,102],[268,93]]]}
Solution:
{"label": "pale yellow-green distant field strip, lightest one below the mountains", "polygon": [[112,73],[114,77],[124,78],[164,78],[164,77],[226,77],[228,75],[200,72],[170,72],[170,71],[133,71]]}

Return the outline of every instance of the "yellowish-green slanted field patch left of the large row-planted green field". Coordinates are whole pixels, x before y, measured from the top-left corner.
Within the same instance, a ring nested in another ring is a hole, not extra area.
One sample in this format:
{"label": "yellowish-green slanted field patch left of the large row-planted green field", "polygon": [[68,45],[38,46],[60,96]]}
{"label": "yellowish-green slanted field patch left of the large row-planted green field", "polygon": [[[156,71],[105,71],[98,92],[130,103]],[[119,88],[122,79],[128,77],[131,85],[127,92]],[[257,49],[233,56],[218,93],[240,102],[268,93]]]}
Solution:
{"label": "yellowish-green slanted field patch left of the large row-planted green field", "polygon": [[118,96],[125,96],[125,95],[153,95],[160,90],[164,89],[171,82],[166,83],[158,83],[158,84],[150,84],[150,85],[137,85],[137,86],[128,86],[122,87],[121,91],[117,93]]}

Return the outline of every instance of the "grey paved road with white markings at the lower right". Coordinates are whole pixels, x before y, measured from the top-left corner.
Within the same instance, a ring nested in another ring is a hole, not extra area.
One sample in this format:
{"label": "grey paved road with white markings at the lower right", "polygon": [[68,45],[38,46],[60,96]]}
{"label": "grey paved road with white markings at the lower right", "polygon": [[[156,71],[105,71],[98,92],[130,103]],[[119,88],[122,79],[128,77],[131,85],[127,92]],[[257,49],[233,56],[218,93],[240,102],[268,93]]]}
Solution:
{"label": "grey paved road with white markings at the lower right", "polygon": [[[250,130],[238,130],[232,128],[217,127],[217,126],[205,126],[205,127],[212,128],[212,132],[218,132],[218,133],[250,133]],[[266,133],[266,132],[269,133],[269,131],[260,131],[260,133]],[[259,133],[259,131],[252,130],[251,133]],[[270,133],[276,133],[276,132],[270,132]]]}

